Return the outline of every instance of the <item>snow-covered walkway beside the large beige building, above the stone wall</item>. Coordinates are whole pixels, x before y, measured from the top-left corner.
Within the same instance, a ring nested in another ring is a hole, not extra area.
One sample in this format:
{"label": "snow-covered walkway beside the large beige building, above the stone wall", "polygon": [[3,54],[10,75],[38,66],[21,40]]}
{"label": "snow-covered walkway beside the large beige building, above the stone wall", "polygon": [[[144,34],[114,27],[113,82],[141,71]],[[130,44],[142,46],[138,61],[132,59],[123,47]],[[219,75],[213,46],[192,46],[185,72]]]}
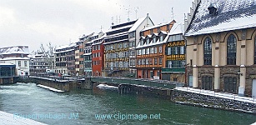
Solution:
{"label": "snow-covered walkway beside the large beige building, above the stone wall", "polygon": [[256,103],[256,98],[253,99],[253,97],[239,97],[237,94],[227,93],[227,92],[214,92],[209,90],[203,90],[203,89],[197,89],[193,87],[176,87],[174,89],[185,91],[185,92],[194,92],[194,93],[200,93],[203,95],[213,96],[213,97],[221,97],[221,98],[227,98],[227,99],[233,99],[241,102],[251,102]]}

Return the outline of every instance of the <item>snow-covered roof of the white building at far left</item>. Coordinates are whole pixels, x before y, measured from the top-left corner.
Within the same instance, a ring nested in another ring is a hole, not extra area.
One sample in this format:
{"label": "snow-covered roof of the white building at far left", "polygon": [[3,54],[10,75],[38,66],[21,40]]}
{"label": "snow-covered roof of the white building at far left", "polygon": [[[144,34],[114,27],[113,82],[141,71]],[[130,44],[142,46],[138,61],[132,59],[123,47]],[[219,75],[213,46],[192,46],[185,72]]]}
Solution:
{"label": "snow-covered roof of the white building at far left", "polygon": [[0,54],[29,54],[28,46],[1,47]]}

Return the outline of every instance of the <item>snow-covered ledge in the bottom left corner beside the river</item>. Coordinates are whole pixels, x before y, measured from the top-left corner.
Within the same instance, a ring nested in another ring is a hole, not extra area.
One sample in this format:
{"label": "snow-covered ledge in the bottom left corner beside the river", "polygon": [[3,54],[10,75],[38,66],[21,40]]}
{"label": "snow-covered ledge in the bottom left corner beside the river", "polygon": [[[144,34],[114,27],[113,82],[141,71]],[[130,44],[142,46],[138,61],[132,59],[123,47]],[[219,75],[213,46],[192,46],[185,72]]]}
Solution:
{"label": "snow-covered ledge in the bottom left corner beside the river", "polygon": [[15,118],[13,114],[0,111],[0,124],[3,125],[46,125],[28,118]]}

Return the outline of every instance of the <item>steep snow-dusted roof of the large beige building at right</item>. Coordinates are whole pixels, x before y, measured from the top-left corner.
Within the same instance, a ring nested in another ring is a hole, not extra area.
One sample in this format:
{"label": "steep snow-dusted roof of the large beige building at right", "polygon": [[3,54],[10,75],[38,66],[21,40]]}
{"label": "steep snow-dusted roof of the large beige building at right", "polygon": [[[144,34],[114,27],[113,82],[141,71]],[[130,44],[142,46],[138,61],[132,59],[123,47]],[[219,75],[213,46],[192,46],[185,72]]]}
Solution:
{"label": "steep snow-dusted roof of the large beige building at right", "polygon": [[[201,0],[185,36],[256,27],[256,0]],[[210,5],[217,14],[209,14]]]}

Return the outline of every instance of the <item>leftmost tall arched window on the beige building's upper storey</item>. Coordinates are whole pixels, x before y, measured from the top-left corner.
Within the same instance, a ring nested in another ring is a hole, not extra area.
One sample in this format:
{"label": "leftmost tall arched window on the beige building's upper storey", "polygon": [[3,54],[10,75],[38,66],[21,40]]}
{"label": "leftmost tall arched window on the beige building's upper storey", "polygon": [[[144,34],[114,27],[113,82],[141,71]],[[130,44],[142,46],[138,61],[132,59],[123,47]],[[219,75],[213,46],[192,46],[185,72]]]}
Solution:
{"label": "leftmost tall arched window on the beige building's upper storey", "polygon": [[203,64],[212,65],[212,40],[206,37],[203,42]]}

